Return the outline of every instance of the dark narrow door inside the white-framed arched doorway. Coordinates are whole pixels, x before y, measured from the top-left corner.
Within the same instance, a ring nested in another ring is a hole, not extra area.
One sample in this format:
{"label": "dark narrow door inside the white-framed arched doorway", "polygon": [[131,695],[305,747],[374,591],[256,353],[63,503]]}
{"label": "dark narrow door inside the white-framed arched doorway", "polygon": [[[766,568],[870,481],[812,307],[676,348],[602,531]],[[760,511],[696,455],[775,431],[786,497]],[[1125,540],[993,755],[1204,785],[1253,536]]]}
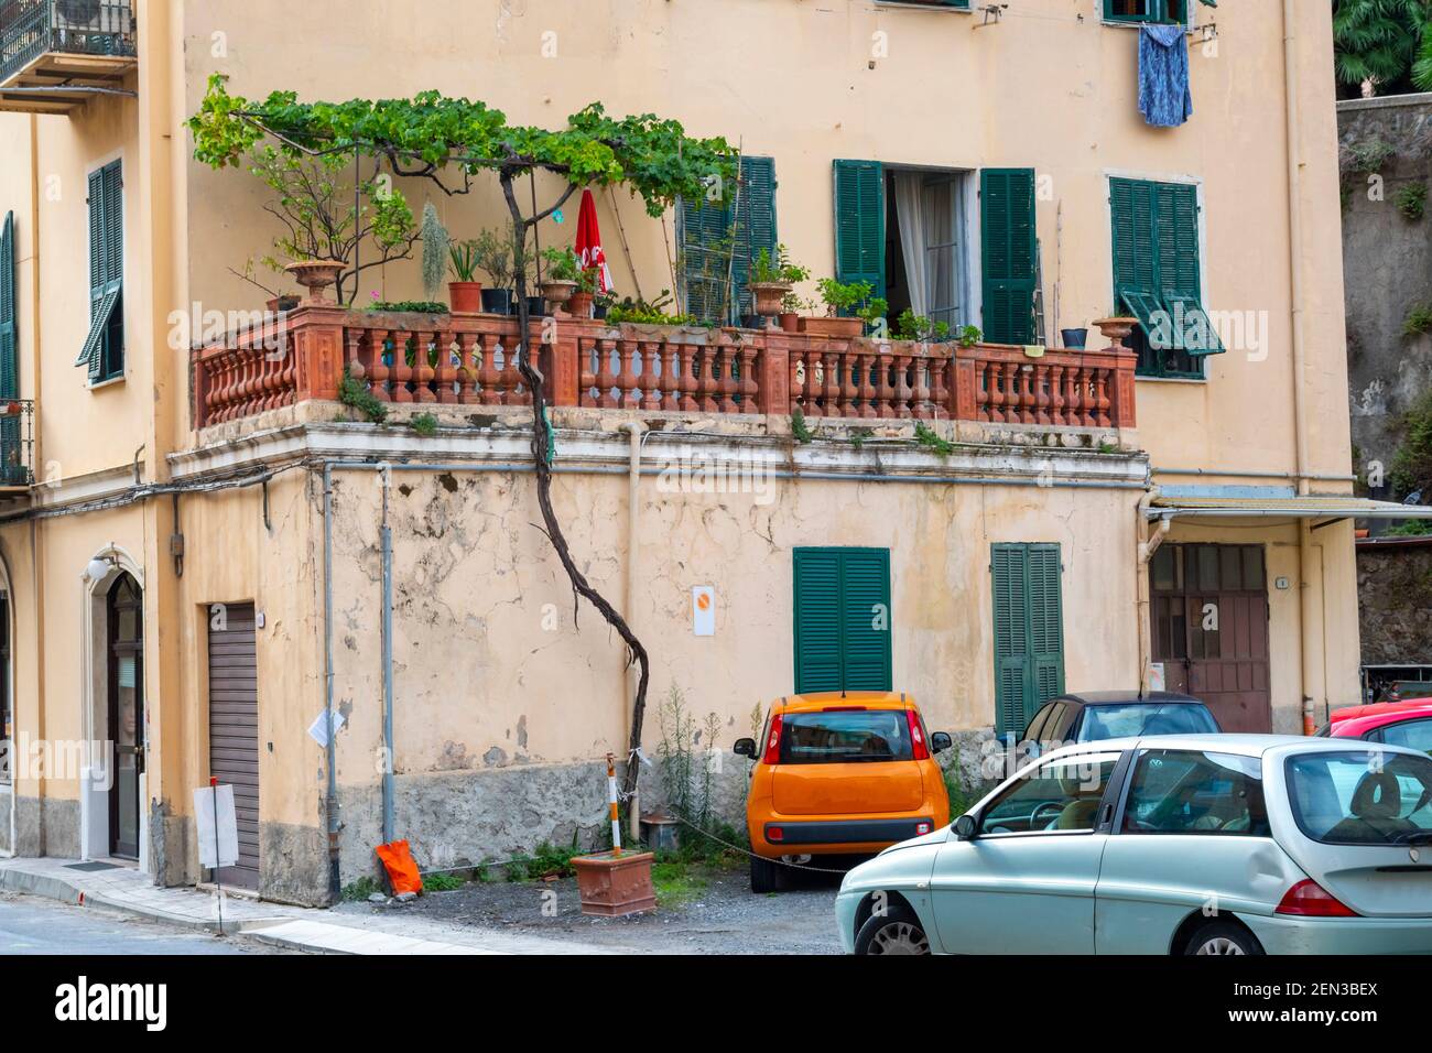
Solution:
{"label": "dark narrow door inside the white-framed arched doorway", "polygon": [[120,573],[105,597],[109,659],[109,732],[115,744],[109,788],[109,854],[139,858],[140,794],[145,769],[145,597]]}

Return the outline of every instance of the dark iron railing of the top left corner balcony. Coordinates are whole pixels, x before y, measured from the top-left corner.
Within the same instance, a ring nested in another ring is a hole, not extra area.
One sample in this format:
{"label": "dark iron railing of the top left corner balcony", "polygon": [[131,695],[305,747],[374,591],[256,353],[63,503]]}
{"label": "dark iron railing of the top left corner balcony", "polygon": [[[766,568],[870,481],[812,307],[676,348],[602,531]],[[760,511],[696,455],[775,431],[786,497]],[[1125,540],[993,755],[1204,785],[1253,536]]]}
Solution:
{"label": "dark iron railing of the top left corner balcony", "polygon": [[42,54],[133,56],[130,0],[0,0],[0,85]]}

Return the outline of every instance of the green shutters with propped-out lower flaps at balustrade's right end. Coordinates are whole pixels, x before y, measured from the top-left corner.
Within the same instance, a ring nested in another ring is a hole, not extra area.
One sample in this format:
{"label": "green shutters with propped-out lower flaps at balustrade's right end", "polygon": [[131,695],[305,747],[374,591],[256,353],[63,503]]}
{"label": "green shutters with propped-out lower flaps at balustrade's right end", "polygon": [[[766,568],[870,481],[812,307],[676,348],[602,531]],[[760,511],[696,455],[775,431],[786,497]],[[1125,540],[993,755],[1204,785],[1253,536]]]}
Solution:
{"label": "green shutters with propped-out lower flaps at balustrade's right end", "polygon": [[1199,188],[1110,179],[1108,201],[1114,302],[1138,319],[1138,372],[1201,378],[1201,358],[1223,354],[1223,342],[1203,309]]}

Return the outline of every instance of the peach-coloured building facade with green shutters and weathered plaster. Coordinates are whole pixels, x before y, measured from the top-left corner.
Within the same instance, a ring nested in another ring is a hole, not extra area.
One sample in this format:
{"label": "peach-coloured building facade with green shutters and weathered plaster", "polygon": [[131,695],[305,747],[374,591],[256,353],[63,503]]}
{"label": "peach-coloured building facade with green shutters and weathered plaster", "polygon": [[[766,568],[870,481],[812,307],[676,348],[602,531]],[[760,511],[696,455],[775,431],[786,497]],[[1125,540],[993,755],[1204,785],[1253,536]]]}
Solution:
{"label": "peach-coloured building facade with green shutters and weathered plaster", "polygon": [[[213,774],[238,798],[226,880],[324,903],[371,871],[385,807],[430,867],[589,840],[626,754],[623,649],[531,526],[514,324],[362,309],[418,299],[415,262],[364,272],[355,311],[228,324],[263,305],[245,274],[278,228],[256,181],[192,158],[213,73],[544,126],[593,99],[676,117],[739,143],[745,203],[652,219],[599,193],[623,294],[742,314],[749,252],[710,282],[733,231],[982,331],[543,337],[558,516],[653,656],[643,752],[676,692],[720,729],[727,802],[730,741],[793,691],[911,692],[967,781],[1061,689],[1163,681],[1263,731],[1356,698],[1326,6],[115,6],[89,36],[46,23],[0,82],[21,159],[0,321],[34,407],[0,511],[7,851],[202,880],[190,795]],[[1179,128],[1138,112],[1144,20],[1189,27]],[[454,236],[505,216],[481,181],[434,203]],[[558,219],[543,245],[570,241]],[[1094,331],[1110,315],[1127,347]],[[345,370],[388,423],[338,400]]]}

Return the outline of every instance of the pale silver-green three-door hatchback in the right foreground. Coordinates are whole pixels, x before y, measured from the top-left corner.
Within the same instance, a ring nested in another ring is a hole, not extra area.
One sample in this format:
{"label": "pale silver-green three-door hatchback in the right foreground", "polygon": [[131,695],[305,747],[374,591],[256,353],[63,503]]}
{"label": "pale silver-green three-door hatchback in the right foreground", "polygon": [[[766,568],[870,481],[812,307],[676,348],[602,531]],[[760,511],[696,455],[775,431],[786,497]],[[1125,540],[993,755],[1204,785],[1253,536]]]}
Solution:
{"label": "pale silver-green three-door hatchback in the right foreground", "polygon": [[1161,735],[1041,756],[852,870],[859,954],[1432,953],[1432,759]]}

